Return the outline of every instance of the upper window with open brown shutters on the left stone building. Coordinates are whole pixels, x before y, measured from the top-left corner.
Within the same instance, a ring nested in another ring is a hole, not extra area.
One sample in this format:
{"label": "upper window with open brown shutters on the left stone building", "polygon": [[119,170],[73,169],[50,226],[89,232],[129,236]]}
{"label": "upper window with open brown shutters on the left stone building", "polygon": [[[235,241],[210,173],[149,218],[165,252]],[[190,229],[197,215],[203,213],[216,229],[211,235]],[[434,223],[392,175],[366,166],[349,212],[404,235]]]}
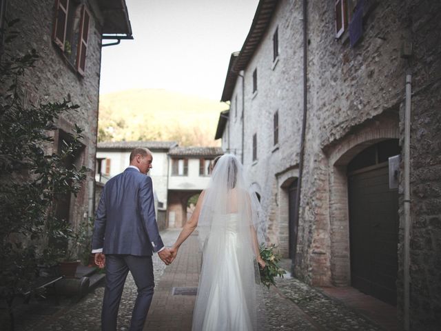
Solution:
{"label": "upper window with open brown shutters on the left stone building", "polygon": [[57,0],[57,15],[52,39],[68,62],[82,76],[85,74],[90,13],[74,0]]}

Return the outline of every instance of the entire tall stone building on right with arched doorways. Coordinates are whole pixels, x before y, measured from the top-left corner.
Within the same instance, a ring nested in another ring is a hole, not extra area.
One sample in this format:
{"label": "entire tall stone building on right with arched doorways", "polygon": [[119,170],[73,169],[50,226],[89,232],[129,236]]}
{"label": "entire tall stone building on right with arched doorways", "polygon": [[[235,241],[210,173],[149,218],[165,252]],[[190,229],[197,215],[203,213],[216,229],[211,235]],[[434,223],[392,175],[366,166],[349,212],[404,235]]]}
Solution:
{"label": "entire tall stone building on right with arched doorways", "polygon": [[216,132],[296,276],[405,330],[441,328],[440,40],[439,1],[261,0]]}

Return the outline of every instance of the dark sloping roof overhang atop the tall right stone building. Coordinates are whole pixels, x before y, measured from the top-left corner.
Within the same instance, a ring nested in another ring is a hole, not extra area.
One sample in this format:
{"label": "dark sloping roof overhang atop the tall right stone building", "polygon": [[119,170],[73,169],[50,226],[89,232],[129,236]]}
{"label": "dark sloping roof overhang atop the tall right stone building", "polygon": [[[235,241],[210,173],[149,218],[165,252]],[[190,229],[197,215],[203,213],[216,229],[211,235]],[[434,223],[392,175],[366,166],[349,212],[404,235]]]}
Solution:
{"label": "dark sloping roof overhang atop the tall right stone building", "polygon": [[225,84],[222,92],[221,101],[231,101],[234,86],[236,85],[236,79],[238,77],[238,72],[240,70],[245,70],[248,66],[249,61],[252,59],[254,52],[262,41],[269,23],[271,22],[271,17],[276,9],[278,0],[260,0],[256,9],[256,14],[254,14],[253,23],[245,42],[243,43],[242,49],[238,52],[236,57],[230,57],[227,78],[225,79]]}

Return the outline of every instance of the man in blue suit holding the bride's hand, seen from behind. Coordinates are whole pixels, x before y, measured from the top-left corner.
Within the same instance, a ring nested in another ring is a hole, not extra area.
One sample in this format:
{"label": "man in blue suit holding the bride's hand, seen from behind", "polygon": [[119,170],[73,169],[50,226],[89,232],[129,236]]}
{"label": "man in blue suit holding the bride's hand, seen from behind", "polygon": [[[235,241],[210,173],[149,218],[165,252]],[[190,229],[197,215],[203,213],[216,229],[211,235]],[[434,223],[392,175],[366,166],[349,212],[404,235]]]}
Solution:
{"label": "man in blue suit holding the bride's hand, seen from behind", "polygon": [[96,265],[106,267],[101,312],[104,331],[116,330],[129,270],[138,288],[130,330],[143,329],[153,297],[152,254],[158,253],[165,264],[171,260],[156,225],[152,179],[146,176],[152,161],[147,148],[132,150],[129,167],[105,184],[96,210],[92,253]]}

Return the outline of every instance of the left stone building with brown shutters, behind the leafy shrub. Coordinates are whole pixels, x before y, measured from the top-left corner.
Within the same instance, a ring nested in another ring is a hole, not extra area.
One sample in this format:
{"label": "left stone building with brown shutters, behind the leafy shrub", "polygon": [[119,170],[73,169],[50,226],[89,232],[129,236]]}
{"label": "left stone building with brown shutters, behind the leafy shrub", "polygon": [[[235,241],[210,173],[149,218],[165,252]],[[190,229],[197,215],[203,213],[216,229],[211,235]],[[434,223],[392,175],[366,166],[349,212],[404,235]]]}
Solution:
{"label": "left stone building with brown shutters, behind the leafy shrub", "polygon": [[[80,106],[59,118],[48,152],[58,152],[77,124],[84,130],[83,149],[73,163],[94,169],[101,47],[103,39],[132,38],[125,0],[1,0],[0,14],[2,28],[6,21],[20,20],[12,47],[21,54],[35,49],[40,56],[21,81],[25,104],[67,99]],[[93,212],[92,171],[76,198],[63,198],[57,214],[78,224]]]}

